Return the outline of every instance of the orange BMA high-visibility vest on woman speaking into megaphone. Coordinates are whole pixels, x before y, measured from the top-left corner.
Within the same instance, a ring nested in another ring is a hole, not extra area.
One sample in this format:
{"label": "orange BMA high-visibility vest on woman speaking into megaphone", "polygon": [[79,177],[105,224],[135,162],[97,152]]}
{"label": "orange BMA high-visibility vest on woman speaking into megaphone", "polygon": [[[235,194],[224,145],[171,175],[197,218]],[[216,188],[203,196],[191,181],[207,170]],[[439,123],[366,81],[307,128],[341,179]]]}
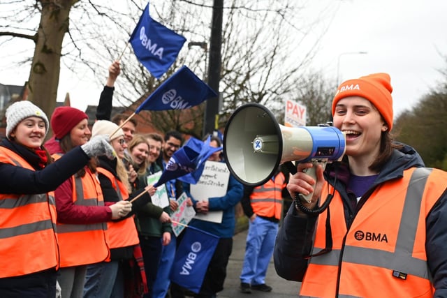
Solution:
{"label": "orange BMA high-visibility vest on woman speaking into megaphone", "polygon": [[[441,170],[404,170],[402,179],[377,186],[349,230],[335,192],[329,205],[332,251],[310,258],[300,297],[433,297],[425,218],[446,181]],[[333,188],[323,190],[321,198]],[[318,216],[312,254],[325,248],[327,214]]]}

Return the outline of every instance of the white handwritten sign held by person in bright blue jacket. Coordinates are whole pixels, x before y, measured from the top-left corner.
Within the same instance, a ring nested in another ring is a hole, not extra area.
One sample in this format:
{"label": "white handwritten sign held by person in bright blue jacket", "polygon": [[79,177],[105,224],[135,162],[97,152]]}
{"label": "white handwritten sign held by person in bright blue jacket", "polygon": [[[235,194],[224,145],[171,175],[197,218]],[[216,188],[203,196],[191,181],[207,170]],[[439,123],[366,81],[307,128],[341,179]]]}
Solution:
{"label": "white handwritten sign held by person in bright blue jacket", "polygon": [[[191,195],[195,200],[207,201],[209,198],[218,198],[226,195],[230,179],[230,171],[226,163],[206,161],[202,176],[197,184],[191,184]],[[196,214],[194,218],[202,221],[222,222],[222,211],[209,211],[207,214]]]}

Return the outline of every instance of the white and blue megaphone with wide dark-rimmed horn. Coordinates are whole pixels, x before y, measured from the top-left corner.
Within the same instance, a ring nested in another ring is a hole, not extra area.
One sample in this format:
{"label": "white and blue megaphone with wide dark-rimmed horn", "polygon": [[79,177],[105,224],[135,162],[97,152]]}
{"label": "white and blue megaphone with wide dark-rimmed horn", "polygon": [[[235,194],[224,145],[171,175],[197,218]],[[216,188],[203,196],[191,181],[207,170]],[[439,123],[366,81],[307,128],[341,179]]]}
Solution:
{"label": "white and blue megaphone with wide dark-rimmed horn", "polygon": [[267,107],[258,103],[238,107],[223,134],[228,170],[247,186],[265,184],[279,165],[288,161],[312,162],[324,168],[328,161],[341,159],[345,147],[346,140],[339,129],[282,126]]}

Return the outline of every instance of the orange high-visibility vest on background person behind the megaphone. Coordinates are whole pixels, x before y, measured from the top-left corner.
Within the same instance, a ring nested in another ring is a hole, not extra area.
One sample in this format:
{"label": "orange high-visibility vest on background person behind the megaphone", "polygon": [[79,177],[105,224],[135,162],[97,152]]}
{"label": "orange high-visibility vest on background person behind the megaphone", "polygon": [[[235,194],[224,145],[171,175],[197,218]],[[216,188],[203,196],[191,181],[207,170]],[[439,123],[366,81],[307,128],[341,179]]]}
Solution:
{"label": "orange high-visibility vest on background person behind the megaphone", "polygon": [[265,184],[253,188],[250,195],[251,209],[259,216],[281,218],[282,190],[286,187],[286,177],[279,172]]}

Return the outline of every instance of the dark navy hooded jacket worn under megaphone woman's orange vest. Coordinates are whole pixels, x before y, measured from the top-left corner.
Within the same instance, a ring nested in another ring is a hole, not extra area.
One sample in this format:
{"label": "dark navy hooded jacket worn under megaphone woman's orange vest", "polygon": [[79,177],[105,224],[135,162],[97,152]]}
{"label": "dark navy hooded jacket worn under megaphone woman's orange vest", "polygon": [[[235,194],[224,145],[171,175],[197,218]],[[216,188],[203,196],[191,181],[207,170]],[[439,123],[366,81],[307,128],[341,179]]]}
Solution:
{"label": "dark navy hooded jacket worn under megaphone woman's orange vest", "polygon": [[[424,167],[419,154],[411,147],[405,145],[400,151],[395,150],[390,160],[384,165],[379,177],[377,177],[371,188],[382,184],[390,179],[403,177],[403,172],[410,167]],[[325,171],[328,183],[334,184],[332,167]],[[356,209],[349,203],[349,190],[346,190],[346,180],[349,178],[347,169],[337,174],[335,189],[340,193],[344,202],[344,216],[346,225],[351,225],[356,211],[362,207],[367,200],[367,191],[360,199]],[[447,186],[446,186],[447,187]],[[352,195],[352,194],[351,194]],[[279,229],[274,246],[274,267],[277,274],[290,281],[302,281],[307,269],[305,256],[309,255],[313,245],[313,235],[317,217],[300,216],[292,204],[284,223]],[[447,297],[447,193],[444,191],[437,204],[426,218],[426,240],[427,263],[433,277],[434,297]]]}

